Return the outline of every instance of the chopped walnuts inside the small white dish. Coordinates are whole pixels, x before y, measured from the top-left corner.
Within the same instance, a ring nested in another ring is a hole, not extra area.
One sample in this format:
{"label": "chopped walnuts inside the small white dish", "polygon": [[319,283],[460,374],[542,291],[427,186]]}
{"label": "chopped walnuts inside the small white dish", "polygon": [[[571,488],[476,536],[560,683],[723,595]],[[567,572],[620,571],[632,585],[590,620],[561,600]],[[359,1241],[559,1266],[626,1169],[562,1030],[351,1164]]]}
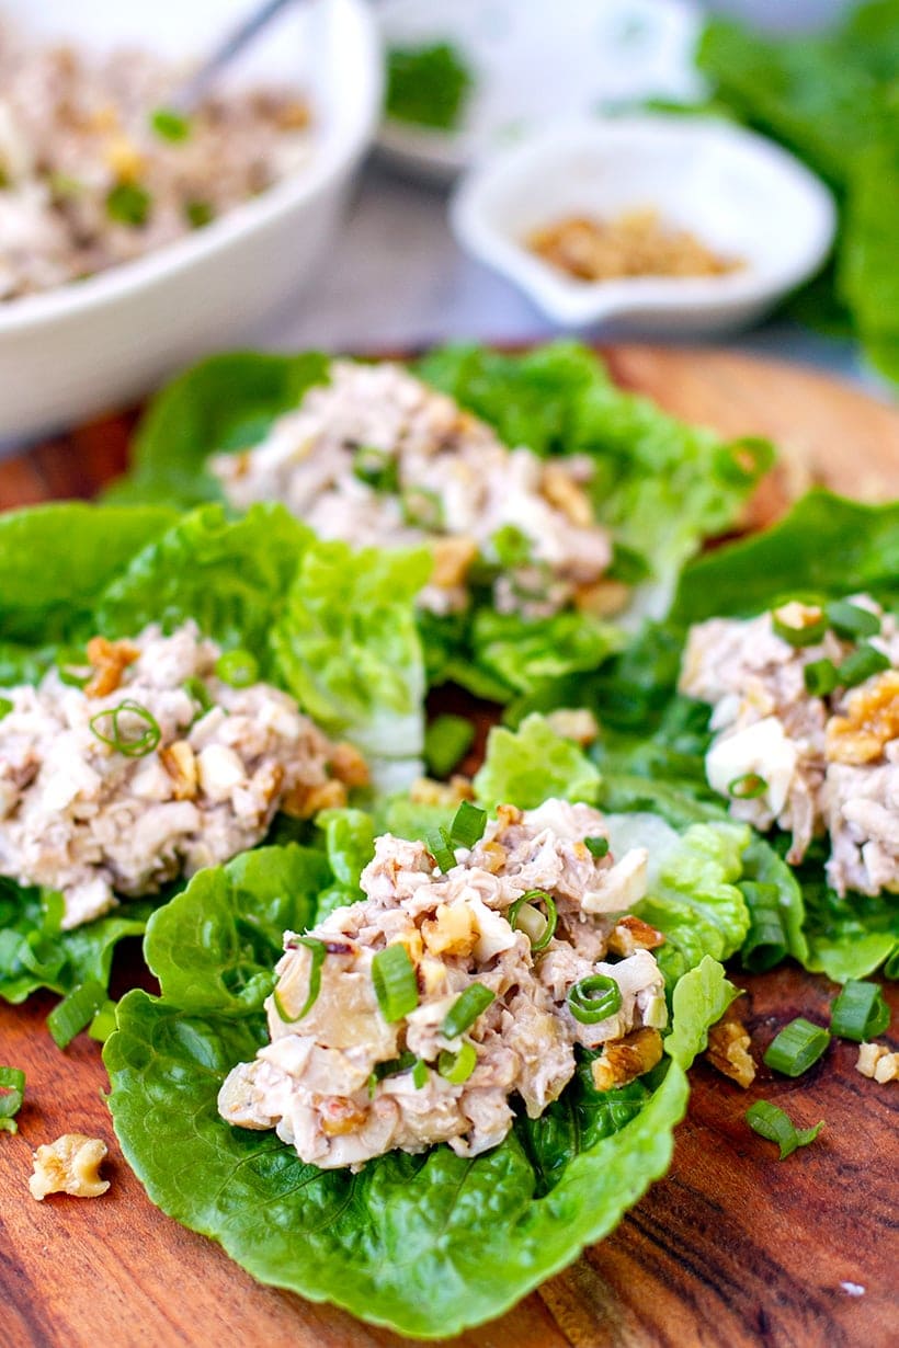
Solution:
{"label": "chopped walnuts inside the small white dish", "polygon": [[623,276],[722,276],[739,257],[722,257],[686,229],[666,225],[658,210],[628,210],[612,220],[569,216],[535,229],[526,247],[577,280]]}

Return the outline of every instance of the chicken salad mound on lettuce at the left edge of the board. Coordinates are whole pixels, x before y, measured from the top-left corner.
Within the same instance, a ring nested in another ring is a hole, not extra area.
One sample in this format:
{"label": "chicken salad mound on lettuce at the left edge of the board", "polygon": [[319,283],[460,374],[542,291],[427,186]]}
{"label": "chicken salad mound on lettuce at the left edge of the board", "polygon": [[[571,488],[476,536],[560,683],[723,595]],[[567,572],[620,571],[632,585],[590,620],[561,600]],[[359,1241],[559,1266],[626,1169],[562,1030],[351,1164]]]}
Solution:
{"label": "chicken salad mound on lettuce at the left edge of the board", "polygon": [[0,689],[0,876],[59,891],[63,929],[341,805],[365,768],[247,651],[194,623],[88,643],[88,663]]}

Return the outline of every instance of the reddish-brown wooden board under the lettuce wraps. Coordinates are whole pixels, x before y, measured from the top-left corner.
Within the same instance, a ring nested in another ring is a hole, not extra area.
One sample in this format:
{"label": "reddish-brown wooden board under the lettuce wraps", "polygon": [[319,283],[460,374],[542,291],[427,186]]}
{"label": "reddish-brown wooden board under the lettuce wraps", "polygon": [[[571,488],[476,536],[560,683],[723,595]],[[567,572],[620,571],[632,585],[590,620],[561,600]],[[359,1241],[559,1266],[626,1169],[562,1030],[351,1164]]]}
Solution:
{"label": "reddish-brown wooden board under the lettuce wraps", "polygon": [[[899,496],[899,412],[801,368],[728,352],[619,346],[605,352],[619,383],[724,434],[771,435],[782,466],[748,522],[775,518],[822,483],[865,499]],[[0,464],[0,507],[90,496],[121,470],[132,418],[89,426]],[[39,561],[35,559],[35,565]],[[125,956],[125,979],[136,961]],[[755,977],[747,1022],[757,1055],[798,1014],[826,1019],[836,988],[795,968]],[[121,989],[117,989],[121,991]],[[894,1026],[899,1011],[890,989]],[[66,1053],[43,1020],[50,998],[0,1007],[0,1062],[27,1072],[18,1136],[0,1134],[0,1329],[5,1345],[266,1348],[395,1345],[330,1306],[261,1287],[212,1242],[185,1231],[131,1175],[102,1103],[98,1047]],[[894,1047],[896,1042],[894,1039]],[[515,1310],[457,1344],[477,1348],[886,1348],[899,1341],[895,1154],[899,1089],[855,1070],[836,1042],[798,1081],[762,1070],[749,1092],[701,1062],[669,1175],[616,1232]],[[744,1123],[756,1097],[798,1124],[826,1120],[814,1146],[787,1162]],[[61,1132],[106,1140],[109,1193],[98,1200],[27,1190],[31,1150]]]}

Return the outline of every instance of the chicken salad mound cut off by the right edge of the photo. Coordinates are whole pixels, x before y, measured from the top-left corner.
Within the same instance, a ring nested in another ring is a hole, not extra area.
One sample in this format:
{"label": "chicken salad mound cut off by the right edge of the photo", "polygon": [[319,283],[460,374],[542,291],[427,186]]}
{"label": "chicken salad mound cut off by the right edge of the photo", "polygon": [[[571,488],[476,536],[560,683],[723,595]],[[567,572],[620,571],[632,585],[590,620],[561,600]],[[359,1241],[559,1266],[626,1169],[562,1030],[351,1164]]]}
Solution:
{"label": "chicken salad mound cut off by the right edge of the photo", "polygon": [[709,785],[731,813],[830,838],[837,894],[899,890],[899,627],[869,596],[691,628],[681,689],[713,706]]}

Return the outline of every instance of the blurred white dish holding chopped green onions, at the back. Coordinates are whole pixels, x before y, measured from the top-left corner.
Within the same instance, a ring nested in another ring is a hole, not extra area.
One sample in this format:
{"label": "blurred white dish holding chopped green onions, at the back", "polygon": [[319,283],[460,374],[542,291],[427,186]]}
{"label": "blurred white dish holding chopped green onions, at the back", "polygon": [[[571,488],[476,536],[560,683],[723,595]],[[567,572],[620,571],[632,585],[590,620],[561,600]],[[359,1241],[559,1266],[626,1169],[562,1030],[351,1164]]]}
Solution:
{"label": "blurred white dish holding chopped green onions, at the back", "polygon": [[381,0],[377,18],[388,49],[450,42],[474,74],[453,131],[381,123],[379,148],[430,181],[550,121],[705,89],[693,59],[702,18],[686,0]]}

